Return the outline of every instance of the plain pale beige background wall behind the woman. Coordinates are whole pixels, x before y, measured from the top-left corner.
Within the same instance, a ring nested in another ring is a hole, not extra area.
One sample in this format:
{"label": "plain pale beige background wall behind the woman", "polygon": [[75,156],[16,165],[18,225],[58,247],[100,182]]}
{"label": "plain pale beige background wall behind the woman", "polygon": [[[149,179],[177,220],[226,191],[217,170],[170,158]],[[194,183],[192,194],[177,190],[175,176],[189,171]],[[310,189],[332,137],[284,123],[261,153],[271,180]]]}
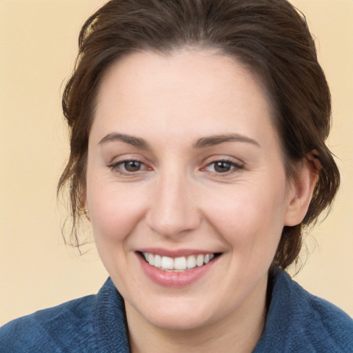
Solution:
{"label": "plain pale beige background wall behind the woman", "polygon": [[[95,293],[107,277],[94,245],[81,257],[63,245],[65,211],[55,197],[68,157],[61,84],[72,70],[79,28],[103,2],[0,0],[0,325]],[[332,89],[330,147],[343,179],[295,278],[353,316],[353,1],[293,3],[317,37]]]}

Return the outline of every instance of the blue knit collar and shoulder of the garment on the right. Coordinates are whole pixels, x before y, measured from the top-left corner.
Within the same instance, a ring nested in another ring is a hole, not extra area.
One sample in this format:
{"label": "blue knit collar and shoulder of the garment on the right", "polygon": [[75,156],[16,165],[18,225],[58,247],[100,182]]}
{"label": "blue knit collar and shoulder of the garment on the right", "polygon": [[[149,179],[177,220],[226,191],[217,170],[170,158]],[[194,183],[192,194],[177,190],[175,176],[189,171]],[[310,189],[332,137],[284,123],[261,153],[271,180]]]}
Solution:
{"label": "blue knit collar and shoulder of the garment on the right", "polygon": [[262,352],[353,352],[353,320],[276,270],[261,344],[270,348]]}

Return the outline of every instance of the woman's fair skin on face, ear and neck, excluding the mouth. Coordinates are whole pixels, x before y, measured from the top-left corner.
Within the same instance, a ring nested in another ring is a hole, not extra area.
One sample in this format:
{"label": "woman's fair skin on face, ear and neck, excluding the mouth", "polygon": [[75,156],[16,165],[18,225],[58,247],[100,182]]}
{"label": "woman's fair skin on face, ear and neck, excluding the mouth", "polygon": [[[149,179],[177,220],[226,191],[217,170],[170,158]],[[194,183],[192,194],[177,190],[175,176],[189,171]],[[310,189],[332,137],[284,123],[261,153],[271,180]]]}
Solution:
{"label": "woman's fair skin on face, ear and neck, excluding the mouth", "polygon": [[[202,143],[215,136],[228,139]],[[315,181],[306,162],[286,178],[266,94],[234,58],[185,49],[114,63],[97,96],[85,208],[125,299],[132,352],[251,352],[281,231],[301,222]],[[221,256],[198,281],[169,288],[145,275],[141,248]]]}

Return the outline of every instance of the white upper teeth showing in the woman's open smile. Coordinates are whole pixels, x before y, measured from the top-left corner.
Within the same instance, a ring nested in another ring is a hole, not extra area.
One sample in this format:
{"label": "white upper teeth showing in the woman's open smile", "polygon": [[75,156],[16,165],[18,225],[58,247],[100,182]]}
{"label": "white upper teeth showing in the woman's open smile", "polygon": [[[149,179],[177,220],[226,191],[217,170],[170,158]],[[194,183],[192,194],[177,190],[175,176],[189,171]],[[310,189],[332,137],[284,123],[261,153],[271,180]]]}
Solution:
{"label": "white upper teeth showing in the woman's open smile", "polygon": [[151,266],[165,272],[185,272],[192,270],[193,268],[208,264],[217,256],[221,255],[220,252],[215,252],[213,254],[197,254],[172,258],[169,256],[151,254],[150,252],[140,252],[140,254]]}

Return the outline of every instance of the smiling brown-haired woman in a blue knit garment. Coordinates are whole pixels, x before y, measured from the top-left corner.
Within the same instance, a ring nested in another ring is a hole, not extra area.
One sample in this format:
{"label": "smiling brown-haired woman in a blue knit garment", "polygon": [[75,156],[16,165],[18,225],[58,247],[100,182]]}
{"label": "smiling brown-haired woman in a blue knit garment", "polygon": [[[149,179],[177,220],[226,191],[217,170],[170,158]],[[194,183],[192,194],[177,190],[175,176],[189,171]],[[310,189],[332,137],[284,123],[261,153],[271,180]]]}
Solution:
{"label": "smiling brown-haired woman in a blue knit garment", "polygon": [[352,319],[283,271],[339,187],[330,92],[290,3],[110,1],[63,110],[59,190],[110,279],[4,326],[4,352],[352,351]]}

